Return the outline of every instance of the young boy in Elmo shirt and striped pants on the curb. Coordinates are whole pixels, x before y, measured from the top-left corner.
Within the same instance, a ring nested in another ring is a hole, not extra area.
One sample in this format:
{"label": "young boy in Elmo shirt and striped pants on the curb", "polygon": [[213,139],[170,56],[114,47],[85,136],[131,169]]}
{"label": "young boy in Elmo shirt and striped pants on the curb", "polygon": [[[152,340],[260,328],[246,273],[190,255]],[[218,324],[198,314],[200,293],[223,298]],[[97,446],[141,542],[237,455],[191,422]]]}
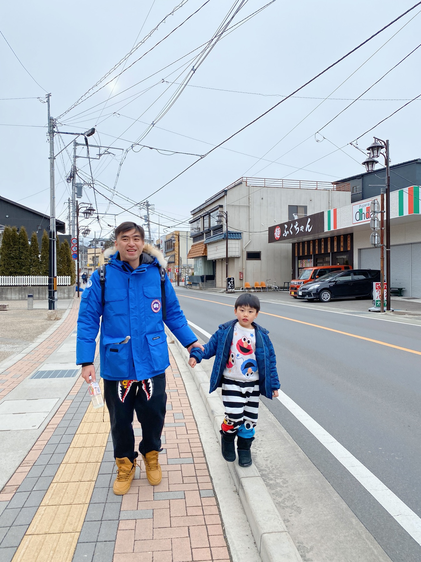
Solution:
{"label": "young boy in Elmo shirt and striped pants on the curb", "polygon": [[234,305],[236,320],[221,324],[204,351],[190,351],[189,365],[215,356],[211,388],[222,387],[225,419],[221,425],[221,449],[225,460],[235,461],[235,436],[240,466],[252,464],[250,447],[257,424],[259,396],[278,396],[280,388],[276,357],[268,331],[254,320],[260,310],[259,299],[243,293]]}

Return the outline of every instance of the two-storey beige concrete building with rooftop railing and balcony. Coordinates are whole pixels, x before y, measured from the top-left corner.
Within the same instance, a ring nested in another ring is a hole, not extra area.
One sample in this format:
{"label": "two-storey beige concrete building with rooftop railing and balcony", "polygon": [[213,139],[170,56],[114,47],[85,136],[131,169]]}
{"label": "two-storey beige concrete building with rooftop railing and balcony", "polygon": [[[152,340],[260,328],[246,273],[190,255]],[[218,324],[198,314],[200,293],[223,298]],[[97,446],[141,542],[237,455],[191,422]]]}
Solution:
{"label": "two-storey beige concrete building with rooftop railing and balcony", "polygon": [[228,277],[244,282],[291,280],[291,247],[268,244],[269,226],[299,219],[350,202],[350,185],[328,182],[240,178],[191,211],[194,284],[225,288],[226,228],[219,211],[228,213]]}

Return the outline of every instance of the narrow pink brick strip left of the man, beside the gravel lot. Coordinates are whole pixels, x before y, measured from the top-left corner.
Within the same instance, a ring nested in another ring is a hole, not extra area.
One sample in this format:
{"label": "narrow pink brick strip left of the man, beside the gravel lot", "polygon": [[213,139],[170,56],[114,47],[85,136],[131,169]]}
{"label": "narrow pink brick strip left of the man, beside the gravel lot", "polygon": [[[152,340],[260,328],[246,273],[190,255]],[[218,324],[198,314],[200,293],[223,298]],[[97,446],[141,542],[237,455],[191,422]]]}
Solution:
{"label": "narrow pink brick strip left of the man, beside the gravel lot", "polygon": [[7,396],[8,393],[17,387],[29,374],[31,374],[38,366],[48,359],[53,351],[60,346],[65,338],[75,329],[77,314],[79,312],[80,299],[75,298],[72,307],[65,321],[43,342],[36,346],[32,351],[26,353],[19,361],[16,361],[8,369],[0,374],[1,389],[0,400]]}

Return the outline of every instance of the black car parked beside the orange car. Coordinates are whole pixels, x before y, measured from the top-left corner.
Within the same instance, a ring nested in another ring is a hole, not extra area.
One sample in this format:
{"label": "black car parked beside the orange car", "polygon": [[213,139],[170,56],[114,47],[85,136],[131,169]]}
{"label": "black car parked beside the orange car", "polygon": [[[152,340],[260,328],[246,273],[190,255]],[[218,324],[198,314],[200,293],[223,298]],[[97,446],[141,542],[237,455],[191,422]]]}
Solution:
{"label": "black car parked beside the orange car", "polygon": [[373,283],[380,281],[378,269],[353,269],[323,275],[315,283],[300,287],[298,298],[329,302],[332,298],[373,298]]}

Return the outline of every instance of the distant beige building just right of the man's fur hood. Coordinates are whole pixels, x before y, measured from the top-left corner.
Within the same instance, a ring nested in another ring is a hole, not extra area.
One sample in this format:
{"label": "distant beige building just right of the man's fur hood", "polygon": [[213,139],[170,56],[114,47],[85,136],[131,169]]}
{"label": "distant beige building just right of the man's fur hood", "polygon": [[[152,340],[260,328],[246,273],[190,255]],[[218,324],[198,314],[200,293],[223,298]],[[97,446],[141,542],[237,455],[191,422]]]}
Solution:
{"label": "distant beige building just right of the man's fur hood", "polygon": [[[187,257],[191,248],[190,232],[187,230],[174,230],[157,240],[156,246],[163,252],[167,260],[167,275],[171,281],[177,280],[177,270],[180,264],[180,282],[184,283],[186,275],[193,269],[193,259]],[[180,258],[180,261],[179,261]]]}

